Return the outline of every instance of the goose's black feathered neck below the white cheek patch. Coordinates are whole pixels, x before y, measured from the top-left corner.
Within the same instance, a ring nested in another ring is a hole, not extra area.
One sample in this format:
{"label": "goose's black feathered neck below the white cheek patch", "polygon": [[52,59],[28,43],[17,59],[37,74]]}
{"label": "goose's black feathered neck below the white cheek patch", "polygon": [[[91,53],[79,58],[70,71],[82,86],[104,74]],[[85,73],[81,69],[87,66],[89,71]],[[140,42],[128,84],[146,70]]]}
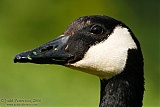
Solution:
{"label": "goose's black feathered neck below the white cheek patch", "polygon": [[100,107],[142,107],[144,77],[141,53],[129,50],[124,70],[100,81]]}

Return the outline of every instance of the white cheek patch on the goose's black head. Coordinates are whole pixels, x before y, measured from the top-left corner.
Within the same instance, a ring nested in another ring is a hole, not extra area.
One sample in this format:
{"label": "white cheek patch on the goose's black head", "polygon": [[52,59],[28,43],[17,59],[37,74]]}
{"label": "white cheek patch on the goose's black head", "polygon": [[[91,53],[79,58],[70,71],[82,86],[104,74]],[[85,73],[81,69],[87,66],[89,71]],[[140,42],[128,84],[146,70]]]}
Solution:
{"label": "white cheek patch on the goose's black head", "polygon": [[137,46],[128,29],[117,26],[108,39],[91,46],[82,60],[69,66],[101,78],[110,78],[125,68],[128,49],[137,49]]}

